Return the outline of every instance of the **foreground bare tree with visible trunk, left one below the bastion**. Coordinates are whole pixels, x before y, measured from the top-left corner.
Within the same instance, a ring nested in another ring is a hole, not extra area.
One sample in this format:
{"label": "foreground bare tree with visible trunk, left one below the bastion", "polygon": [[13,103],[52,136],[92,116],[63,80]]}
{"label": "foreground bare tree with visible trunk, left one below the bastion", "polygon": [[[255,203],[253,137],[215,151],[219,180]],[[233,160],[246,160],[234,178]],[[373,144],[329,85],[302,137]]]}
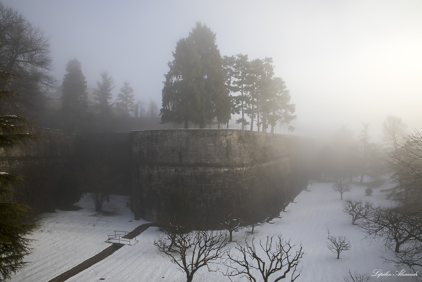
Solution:
{"label": "foreground bare tree with visible trunk, left one below the bastion", "polygon": [[[190,233],[173,233],[164,230],[154,240],[154,245],[168,255],[170,260],[186,274],[191,282],[195,272],[209,263],[220,259],[227,251],[227,237],[224,232],[195,230]],[[171,251],[170,249],[171,247]],[[209,268],[208,268],[209,270]]]}

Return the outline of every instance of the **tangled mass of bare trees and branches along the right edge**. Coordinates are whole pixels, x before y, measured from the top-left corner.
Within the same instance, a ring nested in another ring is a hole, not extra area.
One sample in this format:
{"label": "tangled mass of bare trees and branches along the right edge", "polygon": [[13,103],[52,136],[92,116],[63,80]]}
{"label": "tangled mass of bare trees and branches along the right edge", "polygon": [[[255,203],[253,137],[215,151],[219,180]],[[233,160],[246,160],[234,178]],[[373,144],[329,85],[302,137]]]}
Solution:
{"label": "tangled mass of bare trees and branches along the right edge", "polygon": [[398,266],[422,267],[422,134],[414,131],[398,150],[390,153],[392,189],[387,192],[395,208],[373,208],[360,224],[367,238],[379,240],[395,251],[385,258]]}

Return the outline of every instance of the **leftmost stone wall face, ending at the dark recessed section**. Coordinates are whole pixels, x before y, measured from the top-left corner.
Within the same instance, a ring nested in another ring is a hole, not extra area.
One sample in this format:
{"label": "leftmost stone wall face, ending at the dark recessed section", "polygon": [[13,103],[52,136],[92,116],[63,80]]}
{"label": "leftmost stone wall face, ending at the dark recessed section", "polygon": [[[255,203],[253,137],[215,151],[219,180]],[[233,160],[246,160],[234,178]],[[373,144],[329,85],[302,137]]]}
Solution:
{"label": "leftmost stone wall face, ending at the dark recessed section", "polygon": [[16,173],[24,181],[14,186],[14,201],[34,208],[34,212],[52,211],[54,194],[63,172],[76,167],[75,132],[35,129],[43,140],[28,142],[14,149],[0,148],[0,171]]}

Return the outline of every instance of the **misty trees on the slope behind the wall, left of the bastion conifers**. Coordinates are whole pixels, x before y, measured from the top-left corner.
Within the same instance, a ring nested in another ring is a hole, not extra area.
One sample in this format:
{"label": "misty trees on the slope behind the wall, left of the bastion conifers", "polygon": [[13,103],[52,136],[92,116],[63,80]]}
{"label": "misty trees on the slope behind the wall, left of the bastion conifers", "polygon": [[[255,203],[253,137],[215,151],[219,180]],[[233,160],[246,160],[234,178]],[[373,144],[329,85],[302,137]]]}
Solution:
{"label": "misty trees on the slope behind the wall, left of the bastion conifers", "polygon": [[67,73],[61,84],[62,106],[56,110],[51,107],[48,93],[58,89],[60,81],[51,75],[54,66],[49,37],[19,11],[3,3],[0,3],[0,36],[0,71],[13,74],[10,79],[0,81],[0,89],[19,93],[19,99],[11,96],[7,103],[0,104],[1,113],[22,115],[38,126],[65,130],[144,129],[124,127],[130,122],[139,123],[130,116],[142,117],[143,122],[155,118],[155,126],[160,126],[158,105],[152,100],[145,105],[135,101],[134,90],[128,81],[123,83],[116,101],[111,103],[115,85],[108,71],[100,74],[92,101],[89,101],[87,81],[77,59],[69,60],[66,65]]}

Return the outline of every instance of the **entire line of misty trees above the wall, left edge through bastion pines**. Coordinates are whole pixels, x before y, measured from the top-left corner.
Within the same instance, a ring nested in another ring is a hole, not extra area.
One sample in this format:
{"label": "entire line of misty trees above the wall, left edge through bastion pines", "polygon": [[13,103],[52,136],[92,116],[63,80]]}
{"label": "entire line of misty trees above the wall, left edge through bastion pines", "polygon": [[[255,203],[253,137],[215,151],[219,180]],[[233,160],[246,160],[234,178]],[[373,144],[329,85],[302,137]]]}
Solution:
{"label": "entire line of misty trees above the wall, left edge through bastion pines", "polygon": [[[135,101],[135,91],[128,81],[112,103],[116,85],[108,71],[100,73],[97,87],[89,94],[82,65],[76,58],[67,63],[67,73],[60,83],[51,75],[54,67],[49,37],[14,8],[1,4],[0,10],[0,70],[18,75],[1,81],[0,87],[20,95],[19,100],[2,103],[2,113],[25,116],[42,127],[73,131],[108,131],[107,126],[123,126],[130,117],[158,118],[158,114],[162,124],[173,123],[175,127],[217,124],[220,128],[228,127],[231,115],[238,114],[241,118],[236,123],[241,129],[250,125],[250,130],[266,132],[271,127],[274,132],[277,123],[289,124],[296,118],[284,80],[274,77],[272,58],[248,60],[242,54],[223,57],[216,34],[200,22],[176,44],[159,110],[152,100],[145,105]],[[54,102],[60,102],[61,107],[52,108],[47,93],[59,85],[61,100]],[[123,126],[120,130],[127,129]]]}

